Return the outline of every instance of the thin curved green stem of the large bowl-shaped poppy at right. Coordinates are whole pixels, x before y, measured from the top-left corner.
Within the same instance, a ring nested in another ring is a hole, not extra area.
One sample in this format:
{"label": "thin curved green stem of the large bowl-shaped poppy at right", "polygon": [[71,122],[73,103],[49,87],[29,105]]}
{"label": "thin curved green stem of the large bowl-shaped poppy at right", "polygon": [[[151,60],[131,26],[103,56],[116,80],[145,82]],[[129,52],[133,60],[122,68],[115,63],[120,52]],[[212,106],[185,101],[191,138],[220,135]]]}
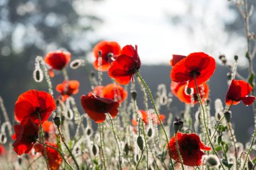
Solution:
{"label": "thin curved green stem of the large bowl-shaped poppy at right", "polygon": [[[212,146],[212,150],[214,151],[215,155],[220,160],[220,157],[218,156],[218,153],[215,151],[214,145],[212,144],[212,141],[211,141],[211,138],[210,138],[210,134],[209,134],[209,131],[208,131],[208,126],[207,126],[207,124],[205,122],[205,112],[204,112],[204,109],[203,109],[203,102],[202,102],[201,96],[199,94],[199,90],[198,90],[198,87],[197,87],[197,75],[195,75],[195,74],[194,74],[194,80],[195,80],[195,89],[197,90],[197,97],[198,97],[200,105],[201,105],[201,110],[203,111],[203,125],[205,127],[206,135],[207,135],[207,138],[208,138],[208,140],[209,140],[209,142],[210,142],[210,144]],[[222,165],[221,161],[220,161],[220,165],[222,166],[223,169],[225,169],[224,166]]]}

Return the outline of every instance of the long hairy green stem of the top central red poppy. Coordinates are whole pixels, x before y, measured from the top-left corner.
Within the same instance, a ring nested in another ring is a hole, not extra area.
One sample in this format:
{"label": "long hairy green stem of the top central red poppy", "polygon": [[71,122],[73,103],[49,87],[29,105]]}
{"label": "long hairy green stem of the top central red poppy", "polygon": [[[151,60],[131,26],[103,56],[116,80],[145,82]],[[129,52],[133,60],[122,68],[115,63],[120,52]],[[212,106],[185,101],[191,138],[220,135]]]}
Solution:
{"label": "long hairy green stem of the top central red poppy", "polygon": [[160,117],[159,117],[158,111],[156,110],[156,105],[155,105],[155,102],[154,102],[152,93],[151,93],[151,91],[150,91],[150,87],[148,87],[148,85],[147,85],[146,82],[142,79],[141,75],[139,74],[139,72],[138,72],[137,70],[136,70],[136,75],[137,75],[137,77],[139,77],[139,79],[141,80],[141,82],[143,83],[143,85],[146,87],[146,90],[148,91],[148,94],[150,95],[150,100],[151,100],[152,105],[153,105],[153,107],[154,107],[154,110],[155,110],[155,112],[156,112],[156,116],[158,116],[158,120],[159,120],[159,122],[160,122],[160,126],[161,126],[162,130],[164,131],[164,136],[165,136],[165,138],[166,138],[166,143],[167,143],[167,145],[168,145],[168,154],[169,154],[169,156],[170,156],[170,164],[171,164],[171,166],[172,166],[172,169],[174,169],[173,163],[172,163],[172,157],[171,157],[171,153],[170,153],[170,144],[169,144],[169,142],[168,142],[168,136],[167,136],[167,134],[166,134],[166,130],[164,129],[164,125],[162,124],[162,121],[161,121],[161,119],[160,119]]}

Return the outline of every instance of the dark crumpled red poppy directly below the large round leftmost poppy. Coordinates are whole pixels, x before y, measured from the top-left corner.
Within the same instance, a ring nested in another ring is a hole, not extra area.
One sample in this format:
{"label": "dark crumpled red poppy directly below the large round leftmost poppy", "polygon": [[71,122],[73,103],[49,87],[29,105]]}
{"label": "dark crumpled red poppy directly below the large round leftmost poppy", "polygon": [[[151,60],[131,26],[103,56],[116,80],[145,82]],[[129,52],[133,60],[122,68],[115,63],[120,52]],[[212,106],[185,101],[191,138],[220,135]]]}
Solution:
{"label": "dark crumpled red poppy directly below the large round leftmost poppy", "polygon": [[15,134],[12,138],[15,142],[12,144],[13,151],[18,155],[29,153],[38,138],[38,125],[31,118],[25,118],[21,124],[14,126]]}

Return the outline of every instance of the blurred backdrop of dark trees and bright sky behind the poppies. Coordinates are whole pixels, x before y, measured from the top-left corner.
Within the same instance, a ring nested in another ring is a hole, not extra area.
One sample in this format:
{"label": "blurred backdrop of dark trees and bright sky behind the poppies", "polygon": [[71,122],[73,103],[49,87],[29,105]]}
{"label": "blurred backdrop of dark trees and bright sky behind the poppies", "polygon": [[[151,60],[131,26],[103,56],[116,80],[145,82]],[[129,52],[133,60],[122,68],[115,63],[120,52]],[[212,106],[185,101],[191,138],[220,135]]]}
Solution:
{"label": "blurred backdrop of dark trees and bright sky behind the poppies", "polygon": [[[256,5],[253,0],[248,3]],[[256,13],[251,17],[251,31],[256,32],[253,21]],[[13,119],[20,93],[47,89],[44,81],[35,83],[32,77],[37,55],[61,48],[71,52],[71,60],[86,58],[90,63],[92,48],[100,40],[114,40],[121,46],[137,44],[141,75],[153,93],[160,83],[170,87],[168,62],[172,54],[203,51],[218,63],[220,54],[225,54],[230,62],[236,54],[238,71],[248,75],[243,19],[230,1],[0,0],[0,95],[10,118]],[[79,97],[90,91],[88,75],[83,69],[67,70],[71,79],[80,81],[79,93],[75,95],[79,103]],[[226,73],[226,67],[217,66],[210,81],[212,104],[217,98],[224,101],[228,89]],[[61,73],[56,73],[53,86],[62,81]],[[110,83],[106,73],[103,83]],[[139,105],[142,107],[142,103]],[[174,97],[172,114],[177,115],[184,106]],[[254,129],[251,106],[236,105],[232,111],[238,141],[249,141]]]}

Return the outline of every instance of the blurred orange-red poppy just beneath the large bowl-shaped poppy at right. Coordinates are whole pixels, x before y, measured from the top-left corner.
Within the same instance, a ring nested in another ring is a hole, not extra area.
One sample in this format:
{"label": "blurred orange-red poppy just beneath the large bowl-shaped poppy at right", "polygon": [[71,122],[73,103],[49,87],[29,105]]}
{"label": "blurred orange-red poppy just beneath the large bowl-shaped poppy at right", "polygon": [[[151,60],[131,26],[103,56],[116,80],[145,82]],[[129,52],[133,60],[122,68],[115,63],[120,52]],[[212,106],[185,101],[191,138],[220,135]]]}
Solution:
{"label": "blurred orange-red poppy just beneath the large bowl-shaped poppy at right", "polygon": [[[191,103],[191,95],[186,93],[187,90],[187,83],[176,83],[172,81],[170,84],[170,89],[172,93],[178,97],[178,99],[184,103],[190,104]],[[200,94],[201,99],[207,99],[209,96],[209,87],[207,83],[203,83],[199,85],[198,91]],[[193,104],[197,103],[197,90],[195,88],[191,88],[191,93],[193,93]]]}

